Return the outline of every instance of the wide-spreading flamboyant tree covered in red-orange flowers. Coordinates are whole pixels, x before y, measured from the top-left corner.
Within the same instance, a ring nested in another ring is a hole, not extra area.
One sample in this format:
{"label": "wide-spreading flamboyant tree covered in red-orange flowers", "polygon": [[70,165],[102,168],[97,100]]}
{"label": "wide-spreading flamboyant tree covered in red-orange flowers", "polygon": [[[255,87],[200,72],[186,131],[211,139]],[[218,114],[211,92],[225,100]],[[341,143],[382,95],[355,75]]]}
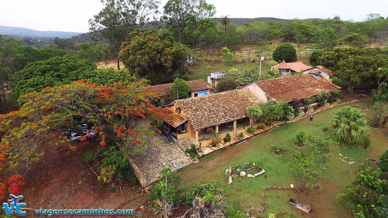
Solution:
{"label": "wide-spreading flamboyant tree covered in red-orange flowers", "polygon": [[[101,146],[109,141],[128,152],[130,145],[141,149],[153,131],[160,131],[156,123],[168,119],[164,110],[151,104],[159,93],[142,89],[146,82],[101,86],[79,80],[22,96],[24,104],[18,111],[0,115],[0,199],[7,191],[18,194],[22,190],[23,174],[29,164],[39,161],[48,146],[68,143],[69,149],[76,149],[60,133],[74,131],[83,135],[79,125],[85,121],[99,132]],[[144,120],[152,125],[140,128],[138,123]]]}

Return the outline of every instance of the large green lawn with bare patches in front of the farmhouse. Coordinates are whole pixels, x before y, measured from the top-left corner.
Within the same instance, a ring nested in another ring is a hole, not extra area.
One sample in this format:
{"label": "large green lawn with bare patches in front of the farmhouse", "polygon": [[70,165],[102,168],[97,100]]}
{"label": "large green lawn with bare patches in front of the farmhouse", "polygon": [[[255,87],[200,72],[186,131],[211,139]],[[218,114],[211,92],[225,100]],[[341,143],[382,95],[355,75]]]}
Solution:
{"label": "large green lawn with bare patches in front of the farmhouse", "polygon": [[[358,102],[357,104],[369,106],[371,102]],[[322,137],[331,135],[333,128],[330,128],[327,133],[322,132],[321,129],[328,126],[327,121],[331,118],[331,112],[340,107],[344,106],[337,106],[315,114],[314,123],[312,124],[308,123],[308,118],[301,119],[253,138],[250,144],[244,142],[225,151],[203,157],[199,163],[184,168],[178,173],[182,175],[186,187],[201,182],[217,182],[227,194],[227,203],[238,209],[253,207],[251,210],[255,210],[260,208],[263,191],[266,196],[265,205],[267,209],[258,213],[260,216],[288,211],[296,217],[302,217],[303,215],[298,209],[288,204],[289,198],[292,197],[312,204],[315,208],[311,212],[313,217],[354,217],[349,211],[341,209],[336,203],[336,194],[343,189],[344,185],[352,182],[365,157],[370,156],[378,159],[378,154],[387,149],[388,131],[386,129],[372,129],[367,133],[372,138],[369,151],[362,151],[359,147],[340,148],[331,145],[332,156],[329,158],[329,165],[321,182],[322,190],[316,190],[314,194],[306,196],[302,196],[296,191],[265,190],[266,187],[274,183],[282,187],[289,187],[293,183],[291,174],[287,170],[287,163],[291,161],[292,155],[298,150],[292,145],[296,133],[304,130]],[[277,143],[285,145],[288,149],[288,152],[281,157],[274,156],[268,147]],[[348,164],[343,162],[338,155],[339,153],[348,156],[347,160],[352,158],[356,163]],[[233,183],[229,185],[225,170],[229,166],[234,167],[251,161],[259,163],[266,172],[255,178],[234,178]],[[370,163],[369,165],[376,167],[375,164]]]}

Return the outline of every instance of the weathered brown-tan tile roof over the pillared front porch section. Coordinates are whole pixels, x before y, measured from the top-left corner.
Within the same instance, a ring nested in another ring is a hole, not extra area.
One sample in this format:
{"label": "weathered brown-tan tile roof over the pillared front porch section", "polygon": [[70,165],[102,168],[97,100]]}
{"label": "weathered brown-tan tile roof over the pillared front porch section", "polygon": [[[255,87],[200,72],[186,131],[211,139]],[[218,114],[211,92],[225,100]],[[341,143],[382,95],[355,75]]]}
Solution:
{"label": "weathered brown-tan tile roof over the pillared front porch section", "polygon": [[259,99],[248,89],[231,90],[203,97],[175,101],[190,120],[194,130],[248,116],[246,108],[258,106]]}

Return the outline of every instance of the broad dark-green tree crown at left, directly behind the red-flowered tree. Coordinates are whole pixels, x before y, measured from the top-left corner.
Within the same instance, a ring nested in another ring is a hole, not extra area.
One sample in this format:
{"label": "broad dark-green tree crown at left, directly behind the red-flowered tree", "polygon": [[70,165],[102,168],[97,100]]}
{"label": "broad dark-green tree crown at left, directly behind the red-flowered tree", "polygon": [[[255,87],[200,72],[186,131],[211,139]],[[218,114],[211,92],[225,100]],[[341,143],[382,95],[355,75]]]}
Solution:
{"label": "broad dark-green tree crown at left, directly behind the red-flowered tree", "polygon": [[22,71],[14,75],[15,92],[23,95],[40,91],[48,86],[59,86],[92,78],[94,69],[97,69],[97,66],[93,62],[68,55],[28,63]]}

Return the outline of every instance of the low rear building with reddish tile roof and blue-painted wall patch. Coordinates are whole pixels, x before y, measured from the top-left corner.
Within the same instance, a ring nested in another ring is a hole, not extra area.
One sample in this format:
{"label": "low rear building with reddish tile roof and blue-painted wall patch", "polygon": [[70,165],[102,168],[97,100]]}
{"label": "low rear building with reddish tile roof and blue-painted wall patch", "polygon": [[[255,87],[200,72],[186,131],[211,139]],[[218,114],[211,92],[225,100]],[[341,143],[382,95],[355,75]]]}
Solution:
{"label": "low rear building with reddish tile roof and blue-painted wall patch", "polygon": [[[210,88],[210,85],[203,80],[190,80],[186,81],[187,85],[189,85],[189,97],[199,97],[204,95],[213,94],[213,89]],[[170,95],[172,92],[170,90],[172,83],[162,84],[162,85],[154,85],[149,87],[144,87],[146,92],[159,92],[161,95],[161,105],[165,105],[165,99],[167,95]]]}

